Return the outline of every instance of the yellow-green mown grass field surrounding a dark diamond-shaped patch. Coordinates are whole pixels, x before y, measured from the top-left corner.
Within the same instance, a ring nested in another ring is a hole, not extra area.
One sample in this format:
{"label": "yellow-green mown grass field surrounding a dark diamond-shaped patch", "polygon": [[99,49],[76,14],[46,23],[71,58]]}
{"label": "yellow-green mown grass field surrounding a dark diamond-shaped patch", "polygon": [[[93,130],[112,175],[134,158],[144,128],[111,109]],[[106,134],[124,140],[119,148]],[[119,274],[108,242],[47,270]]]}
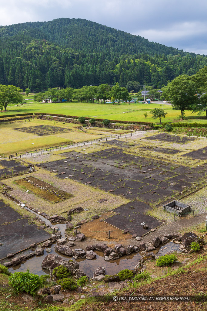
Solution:
{"label": "yellow-green mown grass field surrounding a dark diamond-shaped patch", "polygon": [[[28,133],[24,131],[15,130],[15,128],[25,127],[37,127],[41,125],[57,126],[59,128],[66,128],[68,132],[52,134],[49,131],[45,131],[44,136],[38,136],[36,132]],[[13,122],[3,123],[0,125],[0,155],[11,155],[26,152],[35,151],[36,149],[42,149],[52,146],[61,146],[71,144],[72,142],[85,142],[87,140],[99,139],[106,137],[107,132],[100,132],[98,129],[90,132],[82,131],[79,129],[79,124],[61,123],[48,120],[35,119],[34,121],[25,122]],[[101,133],[101,134],[99,134]]]}

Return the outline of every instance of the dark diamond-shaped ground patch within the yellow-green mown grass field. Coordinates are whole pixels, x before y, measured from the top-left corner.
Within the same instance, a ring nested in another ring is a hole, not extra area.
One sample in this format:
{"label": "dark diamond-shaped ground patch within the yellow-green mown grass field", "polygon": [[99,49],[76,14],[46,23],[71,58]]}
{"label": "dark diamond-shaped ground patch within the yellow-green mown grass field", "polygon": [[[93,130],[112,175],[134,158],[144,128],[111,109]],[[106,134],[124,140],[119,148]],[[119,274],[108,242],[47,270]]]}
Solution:
{"label": "dark diamond-shaped ground patch within the yellow-green mown grass field", "polygon": [[25,128],[13,128],[15,131],[31,133],[38,136],[49,136],[54,134],[61,134],[70,132],[68,128],[61,128],[58,126],[52,125],[38,125],[38,126],[31,126]]}

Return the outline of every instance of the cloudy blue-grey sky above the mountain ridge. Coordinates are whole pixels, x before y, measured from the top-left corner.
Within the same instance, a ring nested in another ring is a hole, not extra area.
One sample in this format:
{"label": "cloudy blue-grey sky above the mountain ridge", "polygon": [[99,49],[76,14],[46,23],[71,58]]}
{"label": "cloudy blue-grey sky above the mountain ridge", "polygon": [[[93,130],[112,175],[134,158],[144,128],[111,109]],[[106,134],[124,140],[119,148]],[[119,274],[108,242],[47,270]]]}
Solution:
{"label": "cloudy blue-grey sky above the mountain ridge", "polygon": [[207,54],[205,0],[1,0],[0,24],[84,18],[188,52]]}

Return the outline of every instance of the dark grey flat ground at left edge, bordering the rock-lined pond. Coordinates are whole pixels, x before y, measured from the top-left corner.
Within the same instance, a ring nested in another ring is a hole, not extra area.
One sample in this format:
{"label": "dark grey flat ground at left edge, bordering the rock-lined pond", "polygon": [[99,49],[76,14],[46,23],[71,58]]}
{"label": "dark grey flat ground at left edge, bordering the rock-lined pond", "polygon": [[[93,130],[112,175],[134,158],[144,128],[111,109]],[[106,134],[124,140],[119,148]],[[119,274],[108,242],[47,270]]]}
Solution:
{"label": "dark grey flat ground at left edge, bordering the rock-lined pond", "polygon": [[[0,202],[2,204],[2,202]],[[6,220],[6,221],[5,221]],[[3,225],[3,223],[8,223]],[[49,239],[51,235],[43,229],[38,229],[36,224],[29,224],[27,218],[9,206],[0,207],[0,259],[8,253],[17,253],[32,243],[40,243]]]}

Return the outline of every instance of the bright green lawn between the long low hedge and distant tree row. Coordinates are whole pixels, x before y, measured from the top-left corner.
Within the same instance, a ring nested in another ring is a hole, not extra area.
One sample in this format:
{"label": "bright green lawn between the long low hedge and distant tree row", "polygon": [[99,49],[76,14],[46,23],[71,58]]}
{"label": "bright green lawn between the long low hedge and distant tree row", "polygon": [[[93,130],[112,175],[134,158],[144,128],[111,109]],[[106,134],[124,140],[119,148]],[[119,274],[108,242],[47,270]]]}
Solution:
{"label": "bright green lawn between the long low hedge and distant tree row", "polygon": [[[85,116],[94,118],[108,118],[110,120],[121,121],[142,121],[142,122],[158,122],[151,118],[150,110],[153,108],[162,108],[161,104],[91,104],[91,103],[56,103],[56,104],[42,104],[42,103],[27,103],[20,105],[10,105],[7,107],[7,112],[0,113],[1,115],[17,114],[17,113],[52,113],[52,114],[66,114],[74,116]],[[167,112],[167,116],[162,121],[177,120],[176,117],[180,114],[179,110],[173,110],[170,105],[163,105],[163,109]],[[143,113],[147,112],[148,117],[145,118]],[[186,111],[186,118],[196,119],[197,113],[192,114],[191,111]],[[205,119],[207,122],[207,119]],[[203,121],[203,120],[202,120]]]}

